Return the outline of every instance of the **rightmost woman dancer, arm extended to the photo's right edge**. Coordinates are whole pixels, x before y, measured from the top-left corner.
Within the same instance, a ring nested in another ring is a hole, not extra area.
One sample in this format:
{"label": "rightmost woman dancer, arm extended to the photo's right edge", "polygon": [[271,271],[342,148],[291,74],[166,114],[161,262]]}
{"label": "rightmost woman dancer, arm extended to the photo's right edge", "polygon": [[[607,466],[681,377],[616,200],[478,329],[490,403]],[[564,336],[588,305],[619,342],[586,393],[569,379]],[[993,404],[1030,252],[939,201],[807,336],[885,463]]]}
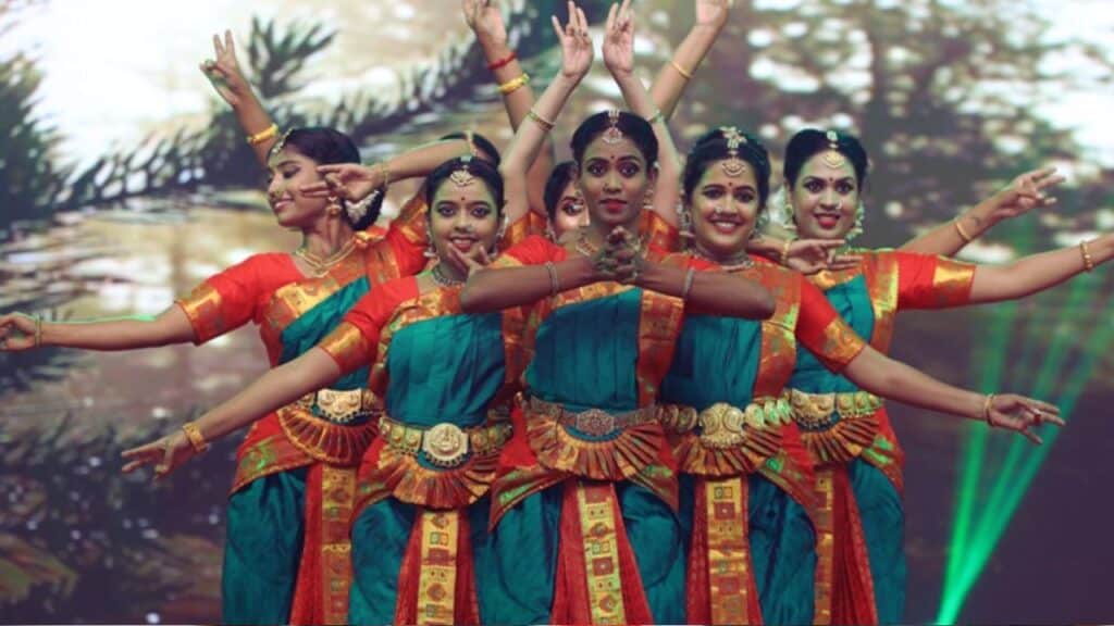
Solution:
{"label": "rightmost woman dancer, arm extended to the photo's right edge", "polygon": [[[790,225],[804,237],[853,236],[861,228],[859,193],[867,164],[866,150],[850,135],[815,129],[798,133],[785,150]],[[1047,204],[1043,188],[1058,180],[1048,170],[1027,176],[1028,182],[1019,180],[1014,192],[996,197],[995,211],[1008,214],[1026,208],[1026,203]],[[960,239],[970,238],[962,223],[947,228]],[[854,252],[861,256],[856,267],[821,272],[811,281],[856,333],[885,353],[898,311],[1024,297],[1108,261],[1114,256],[1114,236],[1000,266],[903,252]],[[790,387],[794,419],[818,468],[822,536],[815,622],[900,622],[906,574],[900,497],[903,452],[885,407],[808,353],[798,360]],[[1036,436],[1030,439],[1039,442]]]}

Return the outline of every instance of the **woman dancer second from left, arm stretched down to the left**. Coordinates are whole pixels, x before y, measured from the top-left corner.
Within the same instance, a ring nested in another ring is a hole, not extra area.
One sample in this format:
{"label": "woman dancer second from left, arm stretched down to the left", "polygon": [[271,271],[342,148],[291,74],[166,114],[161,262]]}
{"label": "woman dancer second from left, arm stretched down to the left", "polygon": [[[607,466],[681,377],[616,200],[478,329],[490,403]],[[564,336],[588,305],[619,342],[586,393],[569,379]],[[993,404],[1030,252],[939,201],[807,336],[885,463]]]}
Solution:
{"label": "woman dancer second from left, arm stretched down to the left", "polygon": [[[429,176],[423,193],[438,263],[381,285],[315,349],[195,422],[213,441],[292,399],[365,374],[372,363],[380,438],[353,485],[349,619],[355,624],[476,624],[482,617],[473,573],[487,549],[486,493],[510,436],[521,316],[461,314],[465,274],[447,262],[449,251],[495,253],[502,223],[496,169],[453,159]],[[126,456],[129,469],[157,463],[165,476],[195,452],[155,442]],[[332,522],[349,529],[348,517]]]}

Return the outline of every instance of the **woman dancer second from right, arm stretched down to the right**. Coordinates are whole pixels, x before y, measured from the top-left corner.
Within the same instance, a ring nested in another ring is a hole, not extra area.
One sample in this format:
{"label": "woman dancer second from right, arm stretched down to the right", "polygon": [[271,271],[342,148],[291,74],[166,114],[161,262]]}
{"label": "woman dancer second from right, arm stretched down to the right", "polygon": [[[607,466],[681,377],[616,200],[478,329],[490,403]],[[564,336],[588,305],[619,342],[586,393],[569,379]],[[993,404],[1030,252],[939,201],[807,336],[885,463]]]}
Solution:
{"label": "woman dancer second from right, arm stretched down to the right", "polygon": [[[727,272],[765,285],[776,301],[756,322],[687,310],[662,382],[662,421],[692,528],[686,622],[804,624],[813,618],[813,473],[790,420],[785,383],[799,358],[841,372],[873,393],[1025,432],[1054,407],[940,383],[866,345],[800,274],[753,260],[746,242],[763,221],[770,160],[753,136],[713,130],[683,176],[693,247],[670,257],[695,272]],[[807,349],[798,351],[797,343]]]}

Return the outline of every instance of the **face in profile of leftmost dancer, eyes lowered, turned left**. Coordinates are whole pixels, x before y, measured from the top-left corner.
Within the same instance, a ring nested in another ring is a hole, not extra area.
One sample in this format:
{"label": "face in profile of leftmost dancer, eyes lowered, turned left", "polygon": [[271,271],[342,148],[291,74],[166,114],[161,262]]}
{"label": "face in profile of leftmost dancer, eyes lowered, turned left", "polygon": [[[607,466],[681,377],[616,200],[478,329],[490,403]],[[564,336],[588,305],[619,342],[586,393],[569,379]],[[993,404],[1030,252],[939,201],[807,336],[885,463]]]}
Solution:
{"label": "face in profile of leftmost dancer, eyes lowered, turned left", "polygon": [[267,203],[280,226],[309,228],[325,214],[329,200],[305,197],[302,185],[317,183],[317,162],[292,146],[286,146],[267,159]]}

